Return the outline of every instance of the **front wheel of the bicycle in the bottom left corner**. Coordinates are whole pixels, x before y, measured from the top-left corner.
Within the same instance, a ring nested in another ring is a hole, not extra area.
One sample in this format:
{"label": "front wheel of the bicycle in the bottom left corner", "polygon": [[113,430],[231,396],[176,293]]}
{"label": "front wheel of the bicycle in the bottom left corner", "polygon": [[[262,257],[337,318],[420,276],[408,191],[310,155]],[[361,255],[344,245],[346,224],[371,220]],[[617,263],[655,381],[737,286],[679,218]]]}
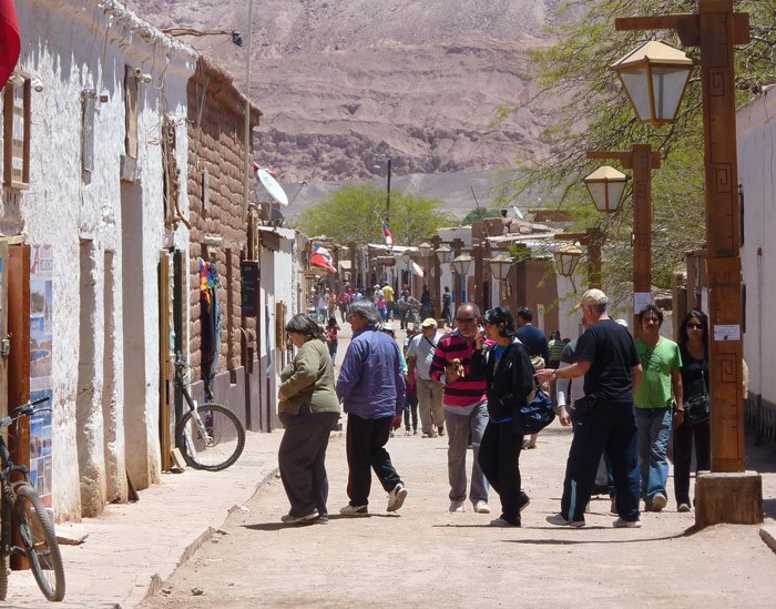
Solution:
{"label": "front wheel of the bicycle in the bottom left corner", "polygon": [[64,566],[54,525],[43,501],[30,485],[24,484],[17,488],[14,519],[38,587],[47,599],[62,600]]}

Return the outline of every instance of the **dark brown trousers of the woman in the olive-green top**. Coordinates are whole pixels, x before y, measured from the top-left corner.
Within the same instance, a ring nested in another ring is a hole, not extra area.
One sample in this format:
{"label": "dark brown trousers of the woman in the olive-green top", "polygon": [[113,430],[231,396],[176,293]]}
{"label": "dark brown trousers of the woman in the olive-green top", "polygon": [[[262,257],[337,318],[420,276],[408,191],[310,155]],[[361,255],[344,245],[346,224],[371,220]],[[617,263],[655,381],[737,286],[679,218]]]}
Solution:
{"label": "dark brown trousers of the woman in the olive-green top", "polygon": [[298,415],[280,413],[285,427],[277,463],[286,496],[290,503],[289,514],[300,518],[326,511],[329,481],[326,476],[326,447],[329,430],[339,417],[338,413],[310,413],[307,404]]}

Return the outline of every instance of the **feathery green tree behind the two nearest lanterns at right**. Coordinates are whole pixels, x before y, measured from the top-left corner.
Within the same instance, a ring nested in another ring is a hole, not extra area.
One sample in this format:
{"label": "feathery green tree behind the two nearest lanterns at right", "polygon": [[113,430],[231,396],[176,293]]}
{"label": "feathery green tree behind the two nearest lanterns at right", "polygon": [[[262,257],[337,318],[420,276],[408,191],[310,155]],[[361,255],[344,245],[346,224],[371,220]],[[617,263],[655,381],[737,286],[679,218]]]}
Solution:
{"label": "feathery green tree behind the two nearest lanterns at right", "polygon": [[[544,111],[552,125],[541,133],[551,154],[535,162],[520,162],[514,177],[500,185],[502,202],[527,191],[542,192],[571,211],[574,230],[599,225],[606,233],[604,280],[621,296],[630,293],[633,225],[631,192],[619,213],[604,216],[590,203],[581,180],[595,166],[614,162],[588,161],[590,150],[630,150],[633,143],[650,143],[663,154],[653,174],[653,283],[668,287],[672,273],[683,266],[684,252],[705,241],[704,164],[701,80],[696,68],[677,121],[655,130],[637,122],[616,75],[609,69],[647,39],[660,39],[681,48],[673,31],[616,32],[617,17],[695,12],[695,0],[581,0],[568,2],[564,24],[549,28],[558,41],[537,50],[533,65],[538,90],[522,105],[497,109],[497,121],[524,106]],[[759,85],[774,80],[776,71],[776,0],[741,0],[737,11],[748,12],[752,42],[736,48],[738,103],[748,102]],[[683,49],[698,60],[697,49]],[[560,108],[558,106],[560,100]],[[550,115],[551,112],[551,115]]]}

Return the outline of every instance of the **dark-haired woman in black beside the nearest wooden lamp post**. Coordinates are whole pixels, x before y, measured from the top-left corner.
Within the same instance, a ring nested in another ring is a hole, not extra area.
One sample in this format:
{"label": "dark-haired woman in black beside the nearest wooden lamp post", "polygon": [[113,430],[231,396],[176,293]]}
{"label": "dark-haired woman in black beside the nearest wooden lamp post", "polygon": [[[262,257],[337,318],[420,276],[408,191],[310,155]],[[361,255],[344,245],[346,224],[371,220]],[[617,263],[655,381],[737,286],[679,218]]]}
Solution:
{"label": "dark-haired woman in black beside the nearest wooden lamp post", "polygon": [[[682,354],[682,385],[684,408],[693,403],[708,400],[708,317],[701,311],[691,311],[678,333]],[[695,460],[697,470],[712,468],[712,448],[708,419],[685,420],[684,409],[674,413],[674,494],[678,511],[690,511],[690,469]]]}

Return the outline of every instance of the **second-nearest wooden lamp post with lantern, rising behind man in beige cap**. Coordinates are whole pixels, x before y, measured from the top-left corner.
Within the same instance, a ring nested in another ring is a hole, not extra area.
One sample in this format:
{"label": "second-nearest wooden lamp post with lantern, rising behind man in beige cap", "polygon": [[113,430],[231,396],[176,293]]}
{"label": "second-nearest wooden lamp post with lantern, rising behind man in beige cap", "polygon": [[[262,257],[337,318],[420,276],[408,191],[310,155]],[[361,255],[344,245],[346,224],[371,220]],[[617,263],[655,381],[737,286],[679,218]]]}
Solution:
{"label": "second-nearest wooden lamp post with lantern, rising behind man in beige cap", "polygon": [[[640,336],[639,312],[652,302],[652,170],[660,168],[660,153],[653,152],[650,144],[634,144],[631,152],[589,152],[588,159],[619,161],[623,168],[633,171],[633,335]],[[616,171],[601,168],[596,172],[601,170]],[[593,203],[599,211],[615,212],[622,201],[625,184],[616,182],[622,186],[619,189],[620,201],[614,209],[609,197],[606,207],[602,209],[601,196],[596,199],[595,189],[591,184],[596,172],[584,179]]]}

